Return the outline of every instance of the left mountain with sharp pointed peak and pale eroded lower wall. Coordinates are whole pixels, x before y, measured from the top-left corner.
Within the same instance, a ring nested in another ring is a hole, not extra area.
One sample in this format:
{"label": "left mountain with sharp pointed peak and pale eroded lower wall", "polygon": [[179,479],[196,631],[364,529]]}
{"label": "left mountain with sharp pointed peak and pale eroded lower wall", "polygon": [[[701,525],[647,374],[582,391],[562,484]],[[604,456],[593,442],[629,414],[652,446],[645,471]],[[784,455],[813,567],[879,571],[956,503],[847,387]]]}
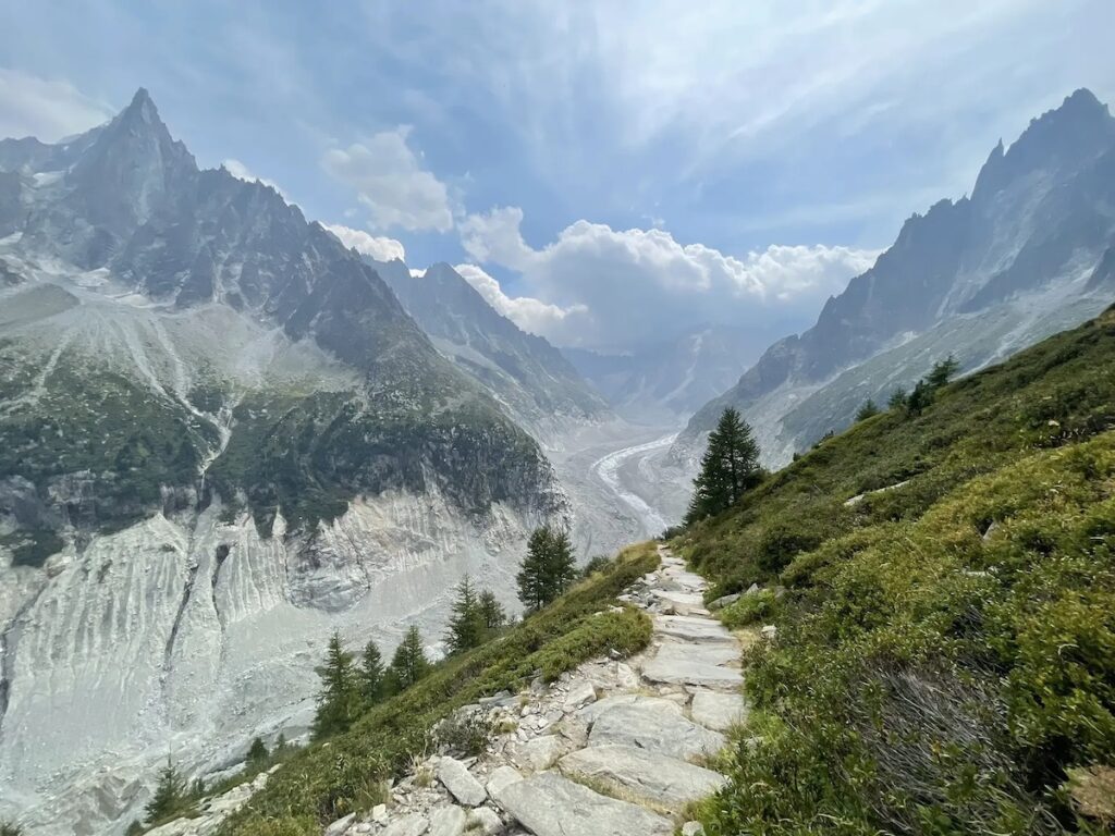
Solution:
{"label": "left mountain with sharp pointed peak and pale eroded lower wall", "polygon": [[568,518],[376,271],[143,90],[0,143],[0,818],[31,834],[122,830],[168,749],[193,777],[304,733],[333,630],[437,635]]}

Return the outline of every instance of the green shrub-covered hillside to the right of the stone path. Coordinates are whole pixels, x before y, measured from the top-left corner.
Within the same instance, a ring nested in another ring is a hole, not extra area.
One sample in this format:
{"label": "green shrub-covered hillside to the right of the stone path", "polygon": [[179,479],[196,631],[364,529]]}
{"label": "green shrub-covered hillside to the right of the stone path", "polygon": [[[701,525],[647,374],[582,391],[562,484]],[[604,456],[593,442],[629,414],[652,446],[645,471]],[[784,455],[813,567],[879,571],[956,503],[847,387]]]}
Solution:
{"label": "green shrub-covered hillside to the right of the stone path", "polygon": [[681,537],[714,594],[788,587],[728,613],[778,639],[748,659],[711,835],[1092,826],[1063,786],[1115,762],[1113,427],[1115,309],[823,443]]}

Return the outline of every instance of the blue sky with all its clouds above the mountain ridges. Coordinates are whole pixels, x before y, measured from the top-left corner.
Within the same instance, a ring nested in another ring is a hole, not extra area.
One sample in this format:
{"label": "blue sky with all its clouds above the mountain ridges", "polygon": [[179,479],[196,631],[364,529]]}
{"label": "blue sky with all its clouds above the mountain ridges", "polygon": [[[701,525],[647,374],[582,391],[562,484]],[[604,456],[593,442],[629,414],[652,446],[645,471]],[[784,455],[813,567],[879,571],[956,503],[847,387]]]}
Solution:
{"label": "blue sky with all its clouds above the mountain ridges", "polygon": [[146,87],[201,165],[561,346],[808,327],[1078,87],[1111,0],[0,4],[0,136]]}

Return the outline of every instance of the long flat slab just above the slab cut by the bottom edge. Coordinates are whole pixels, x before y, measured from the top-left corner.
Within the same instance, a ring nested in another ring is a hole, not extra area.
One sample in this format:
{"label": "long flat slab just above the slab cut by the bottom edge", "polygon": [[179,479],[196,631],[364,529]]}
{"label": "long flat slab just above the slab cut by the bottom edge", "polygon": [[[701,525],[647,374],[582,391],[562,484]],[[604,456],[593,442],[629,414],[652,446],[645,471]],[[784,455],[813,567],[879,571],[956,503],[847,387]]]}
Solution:
{"label": "long flat slab just above the slab cut by the bottom edge", "polygon": [[618,787],[632,800],[678,813],[728,782],[719,772],[631,746],[590,746],[558,762],[562,772]]}

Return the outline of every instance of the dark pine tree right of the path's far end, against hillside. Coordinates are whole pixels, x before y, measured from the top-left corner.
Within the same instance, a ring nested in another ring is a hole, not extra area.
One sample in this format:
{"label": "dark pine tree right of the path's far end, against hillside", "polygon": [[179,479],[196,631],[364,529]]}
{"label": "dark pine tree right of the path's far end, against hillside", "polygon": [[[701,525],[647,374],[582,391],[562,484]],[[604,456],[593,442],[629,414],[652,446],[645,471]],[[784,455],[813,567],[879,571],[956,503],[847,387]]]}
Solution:
{"label": "dark pine tree right of the path's far end, against hillside", "polygon": [[728,407],[708,436],[700,473],[694,479],[694,497],[686,523],[695,523],[730,507],[763,476],[759,447],[752,428],[739,412]]}

